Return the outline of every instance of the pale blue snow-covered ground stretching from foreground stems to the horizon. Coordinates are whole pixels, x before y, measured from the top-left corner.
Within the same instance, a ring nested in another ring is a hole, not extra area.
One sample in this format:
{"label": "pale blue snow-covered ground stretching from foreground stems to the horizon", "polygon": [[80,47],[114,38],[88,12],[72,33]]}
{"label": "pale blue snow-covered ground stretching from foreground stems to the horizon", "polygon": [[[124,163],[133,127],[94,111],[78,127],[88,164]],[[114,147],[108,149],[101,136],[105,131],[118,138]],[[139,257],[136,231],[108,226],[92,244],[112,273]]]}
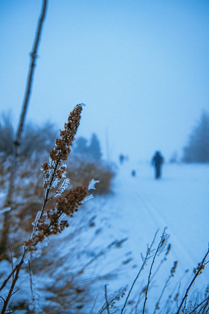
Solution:
{"label": "pale blue snow-covered ground stretching from foreground stems to the horizon", "polygon": [[[136,171],[136,176],[131,175],[132,170]],[[174,283],[178,282],[186,269],[189,269],[189,272],[186,273],[186,279],[182,279],[181,293],[183,293],[183,288],[186,284],[188,285],[192,278],[193,268],[197,266],[198,262],[201,262],[208,250],[209,164],[164,164],[160,180],[154,179],[154,169],[149,163],[130,160],[125,161],[122,165],[118,164],[117,175],[113,182],[113,193],[96,196],[86,202],[84,207],[75,213],[70,222],[70,228],[59,235],[60,244],[56,249],[59,258],[66,256],[65,268],[68,265],[72,266],[69,232],[73,228],[79,230],[79,221],[82,220],[82,217],[89,220],[93,216],[95,216],[93,218],[95,226],[87,229],[84,233],[79,234],[78,232],[76,241],[78,240],[77,247],[79,249],[82,250],[83,245],[85,245],[90,252],[98,252],[115,239],[127,238],[121,248],[113,249],[107,255],[102,256],[98,262],[94,263],[89,272],[87,269],[87,276],[95,276],[109,271],[114,272],[119,267],[119,271],[116,271],[118,272],[116,279],[104,280],[99,283],[102,287],[102,290],[98,290],[102,300],[100,300],[100,305],[104,301],[104,285],[107,285],[108,293],[113,293],[116,289],[125,287],[127,284],[130,288],[142,264],[140,254],[145,256],[147,245],[151,244],[156,231],[159,229],[156,247],[164,227],[167,227],[166,232],[170,234],[169,242],[172,247],[167,261],[163,263],[157,273],[158,277],[156,275],[152,283],[148,308],[151,311],[149,313],[153,313],[152,309],[157,301],[156,298],[159,297],[159,293],[169,276],[173,262],[176,260],[179,262],[177,273],[173,279]],[[47,250],[50,255],[50,245]],[[160,256],[158,261],[161,258]],[[83,256],[81,260],[85,264]],[[126,264],[127,260],[130,262]],[[78,265],[80,269],[79,262],[76,260],[74,265]],[[134,292],[137,293],[137,290],[140,291],[146,285],[149,265],[150,263],[140,275]],[[57,266],[55,265],[55,267]],[[60,265],[60,269],[57,271],[62,273],[62,267]],[[28,275],[25,275],[26,279],[20,278],[19,283],[21,286],[22,281],[25,283],[27,281],[25,291],[28,291],[28,295],[30,295],[27,277]],[[44,282],[47,283],[47,278],[44,279]],[[200,290],[207,284],[209,284],[209,264],[199,276],[194,289]],[[173,286],[168,287],[169,293],[172,289]],[[176,286],[177,289],[178,285]],[[25,291],[24,293],[20,292],[20,294],[25,294]],[[41,299],[39,299],[40,303]]]}

